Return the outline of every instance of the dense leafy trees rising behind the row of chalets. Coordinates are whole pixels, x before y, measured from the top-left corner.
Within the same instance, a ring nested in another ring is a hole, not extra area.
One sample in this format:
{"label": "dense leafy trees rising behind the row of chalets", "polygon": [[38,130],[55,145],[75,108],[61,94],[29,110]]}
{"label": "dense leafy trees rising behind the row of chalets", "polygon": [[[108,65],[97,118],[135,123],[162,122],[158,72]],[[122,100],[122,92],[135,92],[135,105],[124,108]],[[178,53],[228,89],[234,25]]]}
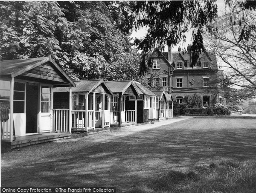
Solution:
{"label": "dense leafy trees rising behind the row of chalets", "polygon": [[1,60],[52,55],[73,79],[137,78],[140,57],[106,2],[0,2]]}

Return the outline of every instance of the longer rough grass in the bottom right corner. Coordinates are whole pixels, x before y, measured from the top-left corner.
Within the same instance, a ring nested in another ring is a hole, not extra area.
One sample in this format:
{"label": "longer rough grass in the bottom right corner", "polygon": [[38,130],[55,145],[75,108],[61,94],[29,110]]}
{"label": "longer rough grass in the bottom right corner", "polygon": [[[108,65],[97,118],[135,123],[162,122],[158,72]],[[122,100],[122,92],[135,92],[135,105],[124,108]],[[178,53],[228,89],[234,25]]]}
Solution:
{"label": "longer rough grass in the bottom right corner", "polygon": [[255,193],[256,160],[212,162],[170,170],[128,193]]}

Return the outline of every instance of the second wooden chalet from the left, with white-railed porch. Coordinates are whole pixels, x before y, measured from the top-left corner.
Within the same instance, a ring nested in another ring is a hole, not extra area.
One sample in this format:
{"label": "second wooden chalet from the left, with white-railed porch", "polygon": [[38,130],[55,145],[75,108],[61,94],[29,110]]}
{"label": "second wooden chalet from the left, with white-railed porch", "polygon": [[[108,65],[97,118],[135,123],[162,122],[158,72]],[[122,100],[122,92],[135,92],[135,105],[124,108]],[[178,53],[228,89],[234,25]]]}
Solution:
{"label": "second wooden chalet from the left, with white-railed porch", "polygon": [[61,123],[61,117],[72,107],[72,131],[97,133],[110,129],[111,112],[110,98],[113,93],[103,80],[74,81],[76,87],[72,90],[69,100],[69,88],[54,89],[53,116],[54,127]]}

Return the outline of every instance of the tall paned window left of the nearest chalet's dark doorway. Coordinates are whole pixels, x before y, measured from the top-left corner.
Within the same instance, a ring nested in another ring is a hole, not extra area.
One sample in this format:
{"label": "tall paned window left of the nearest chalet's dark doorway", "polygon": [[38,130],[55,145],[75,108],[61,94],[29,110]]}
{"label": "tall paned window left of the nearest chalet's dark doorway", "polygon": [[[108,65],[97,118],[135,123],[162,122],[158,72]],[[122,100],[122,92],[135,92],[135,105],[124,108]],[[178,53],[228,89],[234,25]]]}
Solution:
{"label": "tall paned window left of the nearest chalet's dark doorway", "polygon": [[13,113],[25,112],[25,83],[14,83]]}

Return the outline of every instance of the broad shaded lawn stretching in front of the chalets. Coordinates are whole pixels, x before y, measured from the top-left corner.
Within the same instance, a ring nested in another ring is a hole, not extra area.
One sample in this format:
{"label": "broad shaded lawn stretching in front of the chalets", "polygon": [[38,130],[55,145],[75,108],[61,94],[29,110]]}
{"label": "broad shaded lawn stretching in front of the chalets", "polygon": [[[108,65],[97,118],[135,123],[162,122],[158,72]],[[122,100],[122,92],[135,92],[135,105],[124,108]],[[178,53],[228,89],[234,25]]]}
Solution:
{"label": "broad shaded lawn stretching in front of the chalets", "polygon": [[145,127],[3,153],[1,185],[155,191],[152,183],[163,181],[166,173],[186,176],[202,167],[211,174],[211,164],[218,170],[226,166],[221,163],[240,164],[255,159],[256,118],[197,117],[140,131]]}

